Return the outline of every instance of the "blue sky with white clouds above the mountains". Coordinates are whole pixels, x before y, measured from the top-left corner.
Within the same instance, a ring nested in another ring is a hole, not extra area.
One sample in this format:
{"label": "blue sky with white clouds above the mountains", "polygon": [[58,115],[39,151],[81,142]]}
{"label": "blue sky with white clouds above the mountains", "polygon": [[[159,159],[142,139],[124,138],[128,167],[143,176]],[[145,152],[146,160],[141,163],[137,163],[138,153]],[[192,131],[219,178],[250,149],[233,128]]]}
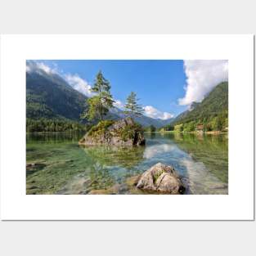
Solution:
{"label": "blue sky with white clouds above the mountains", "polygon": [[92,97],[99,70],[110,81],[115,106],[122,109],[130,92],[136,92],[145,115],[169,119],[200,102],[218,83],[227,81],[227,61],[182,60],[52,60],[27,61],[27,71],[60,74],[70,86]]}

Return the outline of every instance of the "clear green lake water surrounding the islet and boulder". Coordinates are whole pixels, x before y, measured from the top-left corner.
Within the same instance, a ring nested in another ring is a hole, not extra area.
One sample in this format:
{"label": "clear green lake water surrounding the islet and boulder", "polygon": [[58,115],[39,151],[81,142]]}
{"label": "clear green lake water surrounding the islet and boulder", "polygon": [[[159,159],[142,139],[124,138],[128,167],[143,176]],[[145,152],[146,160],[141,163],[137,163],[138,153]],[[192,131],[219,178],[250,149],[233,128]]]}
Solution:
{"label": "clear green lake water surrounding the islet and boulder", "polygon": [[81,137],[27,134],[27,194],[146,194],[128,179],[159,162],[177,170],[186,194],[228,193],[227,134],[146,132],[146,146],[132,148],[79,146]]}

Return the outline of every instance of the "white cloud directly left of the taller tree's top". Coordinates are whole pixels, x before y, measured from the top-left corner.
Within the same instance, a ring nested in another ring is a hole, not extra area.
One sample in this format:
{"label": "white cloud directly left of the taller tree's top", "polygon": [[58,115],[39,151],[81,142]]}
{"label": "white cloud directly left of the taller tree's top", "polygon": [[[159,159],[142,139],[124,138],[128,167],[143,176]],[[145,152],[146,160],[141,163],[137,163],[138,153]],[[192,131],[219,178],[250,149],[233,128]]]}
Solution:
{"label": "white cloud directly left of the taller tree's top", "polygon": [[91,91],[91,85],[84,79],[81,79],[78,74],[66,74],[65,80],[70,84],[72,88],[74,88],[74,90],[83,93],[83,95],[87,97],[92,97],[95,94]]}

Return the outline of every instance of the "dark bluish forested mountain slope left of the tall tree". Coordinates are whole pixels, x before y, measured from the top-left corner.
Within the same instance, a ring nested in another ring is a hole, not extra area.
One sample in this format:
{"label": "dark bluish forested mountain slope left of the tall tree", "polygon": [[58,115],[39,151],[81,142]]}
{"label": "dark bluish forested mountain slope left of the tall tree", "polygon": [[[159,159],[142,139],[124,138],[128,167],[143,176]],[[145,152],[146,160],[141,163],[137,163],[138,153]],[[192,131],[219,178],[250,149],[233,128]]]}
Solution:
{"label": "dark bluish forested mountain slope left of the tall tree", "polygon": [[79,120],[85,97],[58,75],[26,74],[27,118]]}

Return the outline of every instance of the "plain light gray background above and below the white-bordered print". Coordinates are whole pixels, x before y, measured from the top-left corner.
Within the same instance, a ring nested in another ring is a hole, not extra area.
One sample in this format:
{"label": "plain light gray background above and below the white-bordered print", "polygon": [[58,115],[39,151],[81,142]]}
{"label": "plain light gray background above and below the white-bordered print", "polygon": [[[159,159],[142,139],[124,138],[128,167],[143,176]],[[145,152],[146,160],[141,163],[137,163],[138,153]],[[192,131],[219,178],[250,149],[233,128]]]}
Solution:
{"label": "plain light gray background above and below the white-bordered print", "polygon": [[[0,0],[0,33],[256,34],[255,10],[254,0]],[[255,237],[255,222],[0,222],[0,253],[253,255]]]}

